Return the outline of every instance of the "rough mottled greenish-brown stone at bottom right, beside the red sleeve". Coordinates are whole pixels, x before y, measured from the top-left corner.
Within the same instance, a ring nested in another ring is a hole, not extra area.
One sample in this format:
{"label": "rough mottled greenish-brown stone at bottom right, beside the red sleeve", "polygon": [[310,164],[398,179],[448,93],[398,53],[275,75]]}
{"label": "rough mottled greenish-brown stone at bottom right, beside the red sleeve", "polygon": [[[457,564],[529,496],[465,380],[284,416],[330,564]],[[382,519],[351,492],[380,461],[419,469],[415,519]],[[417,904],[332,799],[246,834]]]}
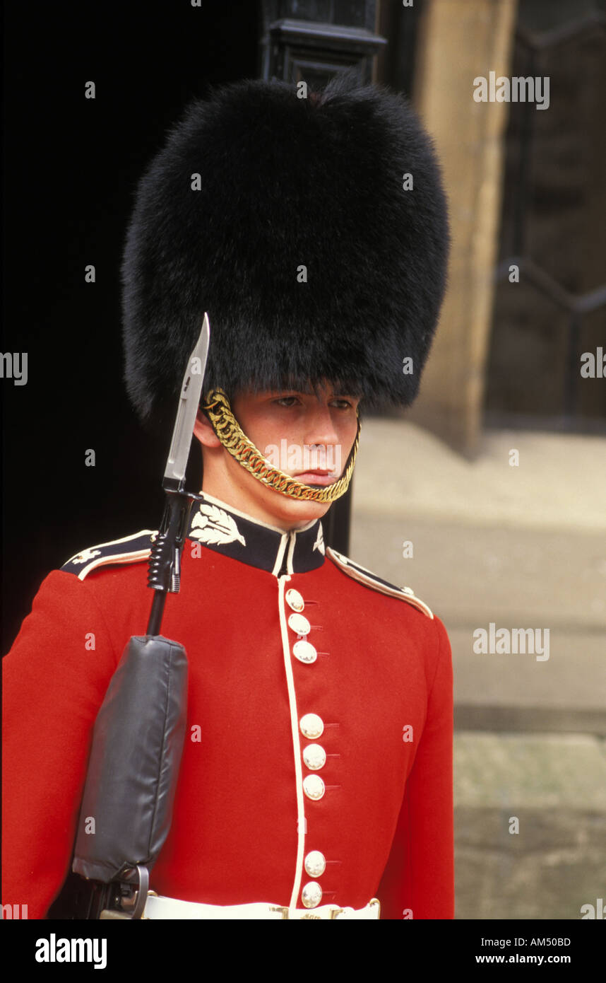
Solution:
{"label": "rough mottled greenish-brown stone at bottom right, beside the red sleeve", "polygon": [[457,918],[578,920],[606,902],[604,741],[460,731],[454,760]]}

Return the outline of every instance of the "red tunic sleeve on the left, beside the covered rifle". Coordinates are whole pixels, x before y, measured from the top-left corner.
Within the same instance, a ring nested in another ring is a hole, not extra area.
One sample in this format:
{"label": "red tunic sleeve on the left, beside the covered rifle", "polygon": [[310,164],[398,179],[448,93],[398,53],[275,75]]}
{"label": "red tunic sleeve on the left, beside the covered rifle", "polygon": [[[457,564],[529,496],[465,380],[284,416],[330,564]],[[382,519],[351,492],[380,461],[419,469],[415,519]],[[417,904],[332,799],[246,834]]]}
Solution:
{"label": "red tunic sleeve on the left, beside the covered rifle", "polygon": [[3,660],[2,901],[27,904],[29,918],[44,918],[68,873],[92,725],[116,663],[87,585],[51,573]]}

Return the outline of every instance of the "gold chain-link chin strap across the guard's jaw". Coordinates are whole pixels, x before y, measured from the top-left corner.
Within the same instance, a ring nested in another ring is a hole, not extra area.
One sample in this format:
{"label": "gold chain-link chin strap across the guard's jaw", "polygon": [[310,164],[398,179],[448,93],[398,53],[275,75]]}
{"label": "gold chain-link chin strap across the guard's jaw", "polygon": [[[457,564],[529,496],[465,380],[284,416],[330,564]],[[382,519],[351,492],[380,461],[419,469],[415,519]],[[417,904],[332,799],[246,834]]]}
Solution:
{"label": "gold chain-link chin strap across the guard's jaw", "polygon": [[251,440],[248,440],[247,434],[240,427],[223,389],[213,389],[209,392],[206,397],[206,405],[202,409],[208,414],[212,428],[225,449],[230,452],[232,457],[236,458],[239,464],[242,464],[243,468],[247,469],[253,478],[262,482],[267,488],[281,492],[281,494],[287,494],[290,498],[321,502],[335,501],[336,498],[340,498],[342,494],[347,492],[358,453],[359,421],[356,440],[342,477],[333,485],[313,489],[308,485],[303,485],[302,482],[298,482],[295,478],[290,478],[283,471],[279,471],[278,468],[273,468],[271,464],[267,463],[261,452]]}

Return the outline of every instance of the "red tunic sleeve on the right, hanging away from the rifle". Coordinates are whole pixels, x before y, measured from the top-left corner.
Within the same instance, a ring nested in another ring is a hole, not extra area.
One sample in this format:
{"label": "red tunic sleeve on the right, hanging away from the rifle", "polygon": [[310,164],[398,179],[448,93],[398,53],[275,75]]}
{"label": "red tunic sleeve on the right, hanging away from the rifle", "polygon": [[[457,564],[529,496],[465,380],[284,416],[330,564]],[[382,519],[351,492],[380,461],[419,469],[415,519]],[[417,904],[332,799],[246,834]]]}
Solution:
{"label": "red tunic sleeve on the right, hanging away from the rifle", "polygon": [[[381,918],[454,918],[453,665],[436,618],[438,660],[395,838],[377,897]],[[431,680],[430,680],[431,682]]]}

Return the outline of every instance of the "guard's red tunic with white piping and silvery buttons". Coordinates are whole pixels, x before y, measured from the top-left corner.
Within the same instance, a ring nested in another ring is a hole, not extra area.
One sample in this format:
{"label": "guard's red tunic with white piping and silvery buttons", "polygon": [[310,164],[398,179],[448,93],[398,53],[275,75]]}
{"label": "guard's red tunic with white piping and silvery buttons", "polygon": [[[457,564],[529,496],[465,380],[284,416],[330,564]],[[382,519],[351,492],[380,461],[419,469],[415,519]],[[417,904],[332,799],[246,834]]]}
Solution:
{"label": "guard's red tunic with white piping and silvery buttons", "polygon": [[[377,896],[382,918],[452,918],[442,622],[325,555],[319,522],[281,533],[206,496],[191,536],[162,624],[189,657],[188,731],[151,888],[301,908],[315,883],[317,903]],[[139,533],[51,573],[4,660],[2,899],[30,918],[65,879],[92,725],[126,642],[145,633],[148,550]]]}

